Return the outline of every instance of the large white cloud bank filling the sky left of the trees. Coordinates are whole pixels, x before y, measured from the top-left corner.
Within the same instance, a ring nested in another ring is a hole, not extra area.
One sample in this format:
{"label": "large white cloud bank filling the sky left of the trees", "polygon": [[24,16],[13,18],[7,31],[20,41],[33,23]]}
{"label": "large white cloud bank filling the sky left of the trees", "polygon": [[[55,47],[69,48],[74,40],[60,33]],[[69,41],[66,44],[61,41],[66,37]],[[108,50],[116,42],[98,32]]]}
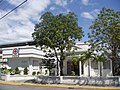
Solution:
{"label": "large white cloud bank filling the sky left of the trees", "polygon": [[[18,5],[23,0],[9,0]],[[28,0],[23,6],[0,20],[0,44],[32,40],[33,21],[40,18],[42,11],[50,4],[50,0]],[[5,11],[3,11],[6,13]]]}

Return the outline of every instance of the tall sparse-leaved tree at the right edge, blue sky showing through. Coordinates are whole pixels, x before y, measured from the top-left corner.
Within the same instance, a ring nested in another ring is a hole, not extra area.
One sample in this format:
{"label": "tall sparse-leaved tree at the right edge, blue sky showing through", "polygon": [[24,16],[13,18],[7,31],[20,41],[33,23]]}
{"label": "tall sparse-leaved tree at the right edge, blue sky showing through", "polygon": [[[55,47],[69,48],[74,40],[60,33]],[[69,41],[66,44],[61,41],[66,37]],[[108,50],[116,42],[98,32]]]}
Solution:
{"label": "tall sparse-leaved tree at the right edge, blue sky showing through", "polygon": [[115,62],[120,49],[120,12],[102,8],[90,29],[91,33],[88,33],[88,37],[91,49],[111,53],[112,71],[115,75]]}

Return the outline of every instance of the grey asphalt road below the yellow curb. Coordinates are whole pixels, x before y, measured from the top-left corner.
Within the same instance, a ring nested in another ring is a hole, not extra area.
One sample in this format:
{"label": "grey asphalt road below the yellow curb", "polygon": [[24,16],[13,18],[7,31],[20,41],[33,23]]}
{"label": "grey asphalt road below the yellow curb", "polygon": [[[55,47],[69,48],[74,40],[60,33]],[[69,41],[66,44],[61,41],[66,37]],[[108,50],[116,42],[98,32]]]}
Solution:
{"label": "grey asphalt road below the yellow curb", "polygon": [[45,88],[45,87],[15,86],[15,85],[0,84],[0,90],[80,90],[80,89],[48,88],[48,87]]}

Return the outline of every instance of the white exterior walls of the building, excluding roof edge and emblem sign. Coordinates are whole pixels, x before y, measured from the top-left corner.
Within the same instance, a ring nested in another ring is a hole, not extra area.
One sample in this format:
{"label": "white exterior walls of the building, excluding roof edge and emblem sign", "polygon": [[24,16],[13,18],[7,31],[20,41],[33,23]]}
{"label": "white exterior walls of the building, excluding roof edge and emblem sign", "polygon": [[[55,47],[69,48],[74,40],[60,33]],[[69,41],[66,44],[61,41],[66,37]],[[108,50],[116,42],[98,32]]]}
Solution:
{"label": "white exterior walls of the building, excluding roof edge and emblem sign", "polygon": [[[87,51],[89,46],[87,44],[76,44],[75,46],[77,48],[76,50],[76,55],[80,55],[81,52]],[[14,49],[17,48],[18,52],[16,55],[14,55],[13,51]],[[29,69],[29,74],[31,75],[32,72],[38,72],[40,70],[40,62],[45,53],[39,49],[36,48],[35,46],[20,46],[20,47],[9,47],[9,48],[2,48],[2,58],[5,58],[8,60],[8,67],[11,68],[16,68],[16,67],[28,67]],[[63,63],[63,73],[64,75],[70,74],[72,70],[72,67],[68,66],[68,61],[71,61],[70,57],[67,57],[66,60]],[[88,62],[86,62],[83,65],[83,72],[82,72],[82,67],[81,67],[81,62],[79,62],[79,75],[80,76],[88,76],[88,71],[90,68],[90,76],[100,76],[100,65],[97,65],[97,69],[95,69],[93,66],[96,66],[96,64],[93,64],[93,62],[89,63],[90,65],[88,66]],[[108,67],[108,66],[107,66]],[[110,64],[111,67],[111,64]],[[43,68],[44,72],[46,71],[45,68]],[[111,75],[111,68],[109,69],[104,69],[102,65],[102,75],[103,76],[109,76]],[[43,72],[43,73],[44,73]]]}

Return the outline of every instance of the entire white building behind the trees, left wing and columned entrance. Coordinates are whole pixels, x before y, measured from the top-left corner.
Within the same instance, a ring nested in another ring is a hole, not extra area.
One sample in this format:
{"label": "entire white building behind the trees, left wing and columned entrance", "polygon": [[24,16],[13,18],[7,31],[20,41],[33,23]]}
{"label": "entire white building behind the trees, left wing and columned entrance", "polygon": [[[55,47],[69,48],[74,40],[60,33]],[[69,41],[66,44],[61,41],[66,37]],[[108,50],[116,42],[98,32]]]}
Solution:
{"label": "entire white building behind the trees, left wing and columned entrance", "polygon": [[[77,55],[89,48],[87,44],[83,43],[76,44],[76,47]],[[0,68],[19,67],[21,70],[23,70],[25,67],[27,67],[29,70],[29,75],[32,75],[33,72],[49,74],[46,68],[42,68],[40,66],[45,53],[41,49],[36,48],[33,42],[0,45],[0,48],[2,48],[2,52],[0,54]],[[75,71],[79,76],[88,76],[88,70],[90,70],[90,76],[100,76],[101,72],[102,76],[111,76],[112,64],[111,61],[105,63],[90,61],[88,65],[88,61],[86,61],[85,64],[79,62],[78,65],[74,67],[70,57],[64,61],[64,75],[71,75],[71,72]]]}

